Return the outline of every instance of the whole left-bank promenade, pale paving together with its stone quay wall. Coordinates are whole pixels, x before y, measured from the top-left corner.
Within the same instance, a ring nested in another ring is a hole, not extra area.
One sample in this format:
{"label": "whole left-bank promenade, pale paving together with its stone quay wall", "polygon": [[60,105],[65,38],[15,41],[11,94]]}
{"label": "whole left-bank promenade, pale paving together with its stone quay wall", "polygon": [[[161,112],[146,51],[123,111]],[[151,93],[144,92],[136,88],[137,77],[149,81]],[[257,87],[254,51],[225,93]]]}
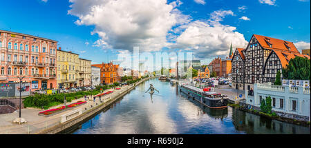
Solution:
{"label": "whole left-bank promenade, pale paving together with its stone quay wall", "polygon": [[[55,114],[53,116],[39,116],[38,113],[42,112],[43,109],[21,109],[21,117],[25,118],[27,121],[27,123],[22,125],[18,125],[17,123],[12,122],[15,118],[19,117],[19,110],[11,114],[0,114],[0,134],[57,134],[79,123],[82,123],[83,120],[90,118],[105,107],[109,107],[109,105],[130,92],[137,85],[140,85],[140,83],[147,81],[150,78],[154,77],[144,78],[135,84],[122,86],[121,89],[106,89],[104,92],[113,91],[113,93],[102,96],[102,101],[100,101],[100,99],[97,97],[94,102],[93,96],[88,96],[89,100],[86,104],[69,109],[66,112]],[[71,103],[77,103],[77,101],[84,101],[84,97],[75,99]],[[64,104],[50,108],[57,108],[62,105]],[[79,112],[79,115],[75,114],[75,112]]]}

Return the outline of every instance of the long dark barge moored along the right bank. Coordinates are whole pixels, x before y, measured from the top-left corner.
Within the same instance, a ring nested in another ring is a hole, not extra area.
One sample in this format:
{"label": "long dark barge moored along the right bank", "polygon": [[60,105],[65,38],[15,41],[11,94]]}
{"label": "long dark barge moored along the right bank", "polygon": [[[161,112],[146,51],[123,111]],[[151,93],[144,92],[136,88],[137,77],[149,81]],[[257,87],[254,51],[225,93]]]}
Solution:
{"label": "long dark barge moored along the right bank", "polygon": [[180,92],[183,92],[203,105],[214,109],[227,107],[229,99],[226,95],[218,94],[216,92],[204,92],[198,87],[187,84],[182,84],[180,86]]}

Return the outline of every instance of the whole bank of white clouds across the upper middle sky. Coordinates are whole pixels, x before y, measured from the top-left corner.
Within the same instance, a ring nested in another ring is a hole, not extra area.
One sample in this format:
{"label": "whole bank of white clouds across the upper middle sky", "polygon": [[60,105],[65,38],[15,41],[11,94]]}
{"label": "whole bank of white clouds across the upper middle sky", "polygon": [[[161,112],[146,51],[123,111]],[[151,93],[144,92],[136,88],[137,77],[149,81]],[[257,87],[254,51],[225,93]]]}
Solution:
{"label": "whole bank of white clouds across the upper middle sky", "polygon": [[[207,19],[192,20],[178,7],[182,1],[166,0],[70,0],[68,14],[78,17],[77,25],[93,25],[91,34],[100,39],[93,46],[103,49],[141,52],[161,51],[163,47],[195,52],[199,58],[227,55],[229,45],[244,47],[247,41],[236,27],[223,25],[232,10],[211,12]],[[205,4],[205,1],[196,1]],[[203,3],[204,2],[204,3]],[[246,9],[244,8],[241,8]],[[248,19],[248,18],[247,18]]]}

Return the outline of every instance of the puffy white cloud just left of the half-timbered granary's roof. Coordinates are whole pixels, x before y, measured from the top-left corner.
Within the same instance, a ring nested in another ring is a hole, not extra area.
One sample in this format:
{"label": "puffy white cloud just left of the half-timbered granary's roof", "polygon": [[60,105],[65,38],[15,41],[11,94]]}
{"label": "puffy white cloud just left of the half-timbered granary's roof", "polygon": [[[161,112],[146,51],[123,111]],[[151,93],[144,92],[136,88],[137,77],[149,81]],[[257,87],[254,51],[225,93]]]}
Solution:
{"label": "puffy white cloud just left of the half-timbered granary's roof", "polygon": [[211,58],[229,54],[230,43],[233,47],[245,47],[247,41],[236,28],[223,25],[219,21],[227,15],[234,15],[231,10],[215,11],[207,21],[194,21],[184,25],[185,31],[176,39],[176,47],[190,48],[198,58]]}

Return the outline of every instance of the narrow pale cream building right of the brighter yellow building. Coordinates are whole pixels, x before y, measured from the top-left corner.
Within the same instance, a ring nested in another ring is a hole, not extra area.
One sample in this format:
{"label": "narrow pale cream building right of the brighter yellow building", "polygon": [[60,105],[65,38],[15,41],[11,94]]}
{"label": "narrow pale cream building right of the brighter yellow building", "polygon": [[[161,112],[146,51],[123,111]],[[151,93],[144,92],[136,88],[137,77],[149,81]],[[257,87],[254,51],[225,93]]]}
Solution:
{"label": "narrow pale cream building right of the brighter yellow building", "polygon": [[79,58],[79,86],[91,85],[91,61]]}

